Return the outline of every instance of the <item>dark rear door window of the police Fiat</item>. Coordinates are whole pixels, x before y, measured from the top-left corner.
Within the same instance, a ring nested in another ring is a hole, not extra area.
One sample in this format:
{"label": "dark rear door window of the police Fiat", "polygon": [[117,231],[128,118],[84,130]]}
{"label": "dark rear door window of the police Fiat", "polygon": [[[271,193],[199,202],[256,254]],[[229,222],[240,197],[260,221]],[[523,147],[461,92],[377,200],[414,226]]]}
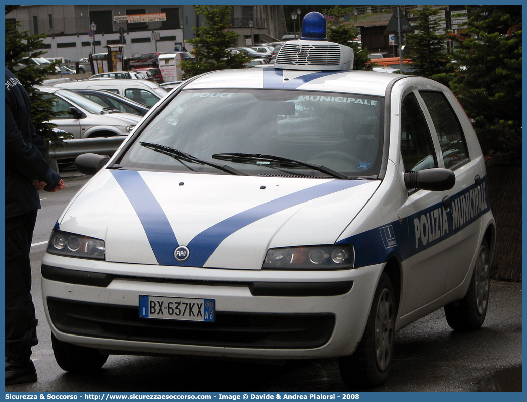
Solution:
{"label": "dark rear door window of the police Fiat", "polygon": [[445,167],[452,169],[469,160],[465,135],[452,106],[441,92],[421,91],[441,144]]}

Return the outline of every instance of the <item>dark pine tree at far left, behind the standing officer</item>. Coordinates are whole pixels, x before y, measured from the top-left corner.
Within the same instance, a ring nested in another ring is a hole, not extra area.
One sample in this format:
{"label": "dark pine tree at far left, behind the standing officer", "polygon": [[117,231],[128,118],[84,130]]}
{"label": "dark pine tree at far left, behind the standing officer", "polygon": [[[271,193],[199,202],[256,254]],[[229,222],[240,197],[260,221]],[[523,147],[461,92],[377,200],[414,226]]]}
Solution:
{"label": "dark pine tree at far left, behind the standing officer", "polygon": [[[17,6],[5,6],[6,14]],[[53,105],[44,98],[44,93],[37,91],[35,85],[42,85],[48,74],[55,72],[55,65],[41,67],[31,65],[28,59],[41,57],[44,53],[43,38],[46,35],[29,35],[28,32],[19,32],[18,23],[6,22],[5,24],[5,66],[22,83],[31,98],[31,120],[36,132],[48,141],[53,147],[63,146],[63,137],[53,128],[56,125],[50,120],[56,116]]]}

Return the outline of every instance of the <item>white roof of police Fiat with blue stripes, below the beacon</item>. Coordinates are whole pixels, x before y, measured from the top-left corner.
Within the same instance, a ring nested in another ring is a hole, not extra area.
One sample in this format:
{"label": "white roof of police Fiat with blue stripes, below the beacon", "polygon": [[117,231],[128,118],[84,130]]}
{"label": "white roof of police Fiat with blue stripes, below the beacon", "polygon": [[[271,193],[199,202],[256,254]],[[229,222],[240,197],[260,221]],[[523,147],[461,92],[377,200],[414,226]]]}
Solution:
{"label": "white roof of police Fiat with blue stripes, below the beacon", "polygon": [[[214,71],[189,82],[185,89],[270,88],[349,92],[384,96],[394,79],[409,77],[373,71],[302,71],[279,68],[244,68]],[[287,81],[285,80],[287,78]],[[287,84],[285,84],[287,82]]]}

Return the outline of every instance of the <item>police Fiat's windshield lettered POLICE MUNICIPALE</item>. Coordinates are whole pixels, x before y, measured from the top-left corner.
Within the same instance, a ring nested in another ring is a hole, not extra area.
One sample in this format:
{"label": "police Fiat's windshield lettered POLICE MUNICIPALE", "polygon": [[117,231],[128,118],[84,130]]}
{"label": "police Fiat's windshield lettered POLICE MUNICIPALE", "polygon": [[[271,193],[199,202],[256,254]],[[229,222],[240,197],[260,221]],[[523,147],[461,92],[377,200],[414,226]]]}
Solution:
{"label": "police Fiat's windshield lettered POLICE MUNICIPALE", "polygon": [[[201,160],[221,159],[249,175],[329,177],[299,164],[301,161],[323,165],[345,177],[375,178],[382,158],[383,121],[384,98],[378,96],[266,89],[183,90],[135,138],[118,164],[222,173],[206,164],[189,165],[187,159],[174,156],[184,152]],[[141,143],[158,145],[158,152]],[[284,158],[295,161],[285,162]]]}

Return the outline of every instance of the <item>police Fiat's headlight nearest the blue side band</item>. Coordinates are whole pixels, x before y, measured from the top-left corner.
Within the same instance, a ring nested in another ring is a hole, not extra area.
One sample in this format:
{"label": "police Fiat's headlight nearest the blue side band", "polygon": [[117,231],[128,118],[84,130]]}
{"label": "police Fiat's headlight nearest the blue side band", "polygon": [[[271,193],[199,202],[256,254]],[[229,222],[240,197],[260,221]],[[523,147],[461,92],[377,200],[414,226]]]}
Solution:
{"label": "police Fiat's headlight nearest the blue side band", "polygon": [[354,260],[348,244],[270,248],[262,269],[349,269]]}

